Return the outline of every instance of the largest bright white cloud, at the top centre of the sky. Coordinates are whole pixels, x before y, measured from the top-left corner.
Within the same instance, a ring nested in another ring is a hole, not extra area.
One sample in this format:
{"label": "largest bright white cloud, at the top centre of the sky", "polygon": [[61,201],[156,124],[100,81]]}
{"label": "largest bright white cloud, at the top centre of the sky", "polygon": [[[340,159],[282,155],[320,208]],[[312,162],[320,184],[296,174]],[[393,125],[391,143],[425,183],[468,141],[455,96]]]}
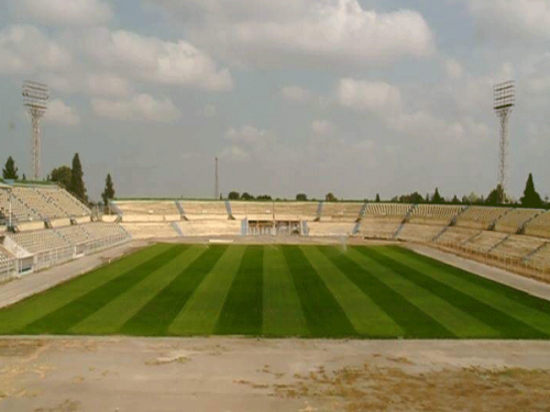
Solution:
{"label": "largest bright white cloud, at the top centre of the sky", "polygon": [[[334,62],[381,65],[430,55],[433,35],[416,11],[376,12],[358,0],[157,0],[201,16],[200,44],[235,63],[272,67]],[[233,10],[231,10],[233,9]]]}

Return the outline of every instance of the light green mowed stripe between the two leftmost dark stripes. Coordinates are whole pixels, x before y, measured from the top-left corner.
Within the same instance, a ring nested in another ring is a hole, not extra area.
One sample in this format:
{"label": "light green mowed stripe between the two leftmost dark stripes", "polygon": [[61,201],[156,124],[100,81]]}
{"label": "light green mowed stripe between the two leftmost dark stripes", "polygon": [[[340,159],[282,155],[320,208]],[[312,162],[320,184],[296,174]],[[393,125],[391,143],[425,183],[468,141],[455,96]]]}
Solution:
{"label": "light green mowed stripe between the two leftmost dark stripes", "polygon": [[204,246],[190,246],[179,256],[153,271],[141,282],[119,294],[103,308],[70,329],[76,334],[105,335],[116,333],[143,305],[205,252]]}

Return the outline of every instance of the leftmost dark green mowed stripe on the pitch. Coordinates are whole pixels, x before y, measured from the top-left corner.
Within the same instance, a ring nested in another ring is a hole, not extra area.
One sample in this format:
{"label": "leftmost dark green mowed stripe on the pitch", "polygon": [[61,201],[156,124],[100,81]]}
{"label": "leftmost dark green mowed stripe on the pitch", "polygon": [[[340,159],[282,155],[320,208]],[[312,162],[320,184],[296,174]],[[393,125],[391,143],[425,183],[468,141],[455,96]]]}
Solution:
{"label": "leftmost dark green mowed stripe on the pitch", "polygon": [[78,299],[23,327],[20,333],[67,333],[69,329],[98,311],[155,269],[176,258],[187,246],[176,245],[139,267],[103,283]]}

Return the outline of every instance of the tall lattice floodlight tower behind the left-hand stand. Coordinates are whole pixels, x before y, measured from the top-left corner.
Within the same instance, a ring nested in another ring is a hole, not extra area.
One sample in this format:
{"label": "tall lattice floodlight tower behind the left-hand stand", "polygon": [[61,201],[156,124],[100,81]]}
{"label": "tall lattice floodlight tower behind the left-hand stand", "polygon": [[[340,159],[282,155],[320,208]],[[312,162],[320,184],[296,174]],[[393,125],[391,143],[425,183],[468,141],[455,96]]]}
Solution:
{"label": "tall lattice floodlight tower behind the left-hand stand", "polygon": [[35,81],[25,81],[23,83],[23,104],[25,105],[33,122],[33,179],[40,179],[40,120],[47,109],[47,101],[50,99],[50,90],[46,85],[37,83]]}

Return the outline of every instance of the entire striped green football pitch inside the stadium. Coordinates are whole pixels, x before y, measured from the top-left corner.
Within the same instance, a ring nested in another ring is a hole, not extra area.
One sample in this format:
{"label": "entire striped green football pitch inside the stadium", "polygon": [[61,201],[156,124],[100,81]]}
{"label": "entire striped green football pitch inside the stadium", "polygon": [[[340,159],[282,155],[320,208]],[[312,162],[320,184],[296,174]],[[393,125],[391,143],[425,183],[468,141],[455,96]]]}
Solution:
{"label": "entire striped green football pitch inside the stadium", "polygon": [[550,302],[398,246],[157,244],[1,310],[0,334],[549,338]]}

